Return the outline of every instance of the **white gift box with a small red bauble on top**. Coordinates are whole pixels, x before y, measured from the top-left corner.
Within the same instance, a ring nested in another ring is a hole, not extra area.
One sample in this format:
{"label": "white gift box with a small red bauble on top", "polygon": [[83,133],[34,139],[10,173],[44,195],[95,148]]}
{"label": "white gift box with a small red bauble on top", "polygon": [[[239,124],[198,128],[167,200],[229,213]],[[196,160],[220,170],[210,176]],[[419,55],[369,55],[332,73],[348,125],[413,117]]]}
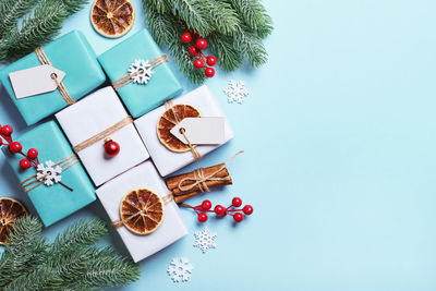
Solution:
{"label": "white gift box with a small red bauble on top", "polygon": [[[97,186],[149,158],[112,87],[90,94],[56,118]],[[107,137],[120,146],[114,157],[105,155]]]}

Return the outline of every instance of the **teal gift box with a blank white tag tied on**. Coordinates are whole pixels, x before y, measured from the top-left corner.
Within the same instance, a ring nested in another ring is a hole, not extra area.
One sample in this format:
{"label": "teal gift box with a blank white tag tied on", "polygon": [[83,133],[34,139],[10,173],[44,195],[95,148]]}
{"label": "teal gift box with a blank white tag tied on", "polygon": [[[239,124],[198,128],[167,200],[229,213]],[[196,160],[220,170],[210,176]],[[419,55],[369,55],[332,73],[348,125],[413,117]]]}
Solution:
{"label": "teal gift box with a blank white tag tied on", "polygon": [[[106,81],[97,56],[81,32],[72,31],[44,46],[43,50],[55,68],[65,72],[62,83],[74,100],[78,100]],[[9,73],[40,64],[36,53],[32,52],[0,72],[1,83],[27,125],[68,106],[58,89],[21,99],[15,97]]]}

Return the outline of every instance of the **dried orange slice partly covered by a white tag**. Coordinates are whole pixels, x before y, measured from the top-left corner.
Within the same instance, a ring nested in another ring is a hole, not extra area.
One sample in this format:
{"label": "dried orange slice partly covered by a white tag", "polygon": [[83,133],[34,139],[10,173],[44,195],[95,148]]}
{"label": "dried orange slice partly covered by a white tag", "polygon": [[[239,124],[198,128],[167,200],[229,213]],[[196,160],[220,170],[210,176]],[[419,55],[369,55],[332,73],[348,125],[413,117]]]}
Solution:
{"label": "dried orange slice partly covered by a white tag", "polygon": [[160,143],[172,151],[190,150],[190,146],[180,142],[170,131],[184,118],[199,117],[199,111],[191,105],[174,105],[162,113],[157,123],[157,135]]}

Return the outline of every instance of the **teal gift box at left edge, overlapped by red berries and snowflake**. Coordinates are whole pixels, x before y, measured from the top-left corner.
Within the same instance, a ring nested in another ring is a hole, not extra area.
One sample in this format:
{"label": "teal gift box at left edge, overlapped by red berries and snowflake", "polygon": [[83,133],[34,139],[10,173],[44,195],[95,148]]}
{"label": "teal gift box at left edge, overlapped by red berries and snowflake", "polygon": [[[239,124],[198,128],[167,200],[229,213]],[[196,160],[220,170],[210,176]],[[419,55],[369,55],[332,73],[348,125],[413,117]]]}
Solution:
{"label": "teal gift box at left edge, overlapped by red berries and snowflake", "polygon": [[[47,160],[59,162],[74,154],[55,121],[38,125],[14,138],[14,142],[20,142],[23,145],[24,153],[29,148],[36,148],[39,151],[40,163]],[[2,150],[20,181],[24,181],[36,173],[35,168],[27,170],[20,168],[19,163],[23,156],[10,154],[5,146],[2,147]],[[59,183],[51,186],[46,186],[43,183],[27,192],[46,227],[96,199],[94,186],[80,162],[62,171],[61,182],[72,187],[73,191],[71,192]]]}

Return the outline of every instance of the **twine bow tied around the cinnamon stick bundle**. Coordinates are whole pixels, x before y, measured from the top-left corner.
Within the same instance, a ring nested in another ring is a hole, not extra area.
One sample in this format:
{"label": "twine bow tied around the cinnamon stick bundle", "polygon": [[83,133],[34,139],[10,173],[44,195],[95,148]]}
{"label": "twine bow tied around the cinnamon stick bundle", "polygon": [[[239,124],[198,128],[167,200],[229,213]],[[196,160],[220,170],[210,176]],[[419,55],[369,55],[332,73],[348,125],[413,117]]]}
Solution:
{"label": "twine bow tied around the cinnamon stick bundle", "polygon": [[[223,177],[223,178],[219,178],[219,177],[215,177],[217,173],[219,173],[220,171],[222,171],[238,155],[244,153],[244,150],[240,150],[237,154],[233,155],[233,157],[231,157],[225,165],[222,165],[221,168],[219,168],[218,170],[216,170],[215,172],[210,173],[209,175],[204,175],[204,171],[203,168],[196,169],[194,171],[194,177],[190,178],[183,178],[182,180],[180,180],[178,189],[183,193],[190,190],[193,190],[195,186],[198,186],[199,191],[202,193],[204,192],[209,192],[209,187],[207,186],[207,181],[228,181],[231,178],[230,177]],[[187,184],[187,185],[183,185],[185,182],[194,182],[192,184]]]}

